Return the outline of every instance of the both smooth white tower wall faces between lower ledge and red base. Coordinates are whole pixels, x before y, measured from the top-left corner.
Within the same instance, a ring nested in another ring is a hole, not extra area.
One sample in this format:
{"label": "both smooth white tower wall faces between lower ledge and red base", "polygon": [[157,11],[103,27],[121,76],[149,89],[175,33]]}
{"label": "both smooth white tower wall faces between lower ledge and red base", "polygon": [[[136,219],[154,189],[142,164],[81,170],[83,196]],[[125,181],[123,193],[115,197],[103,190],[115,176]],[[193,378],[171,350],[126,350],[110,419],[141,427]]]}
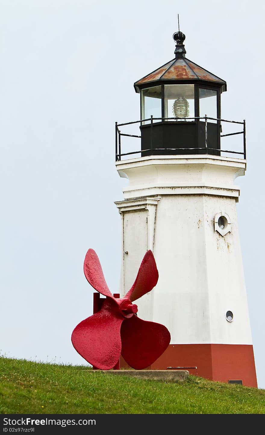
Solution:
{"label": "both smooth white tower wall faces between lower ledge and red base", "polygon": [[[232,223],[224,237],[214,231],[221,210]],[[252,343],[235,199],[162,196],[154,256],[159,280],[153,320],[167,326],[172,343]]]}

